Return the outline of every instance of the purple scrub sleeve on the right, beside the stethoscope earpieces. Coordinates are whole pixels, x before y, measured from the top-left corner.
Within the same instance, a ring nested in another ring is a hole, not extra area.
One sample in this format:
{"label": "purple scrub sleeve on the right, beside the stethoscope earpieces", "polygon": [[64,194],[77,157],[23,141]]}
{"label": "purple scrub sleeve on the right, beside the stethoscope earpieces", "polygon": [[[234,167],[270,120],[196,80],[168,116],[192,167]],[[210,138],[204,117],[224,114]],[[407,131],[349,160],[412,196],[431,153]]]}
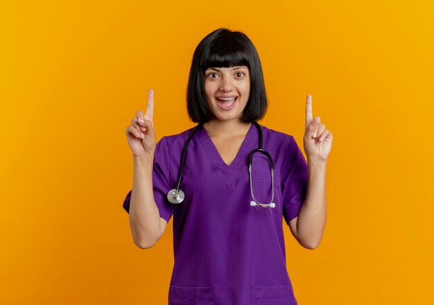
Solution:
{"label": "purple scrub sleeve on the right, beside the stethoscope earpieces", "polygon": [[288,150],[281,168],[281,191],[283,214],[286,224],[297,217],[302,209],[307,190],[307,162],[294,137],[288,143]]}

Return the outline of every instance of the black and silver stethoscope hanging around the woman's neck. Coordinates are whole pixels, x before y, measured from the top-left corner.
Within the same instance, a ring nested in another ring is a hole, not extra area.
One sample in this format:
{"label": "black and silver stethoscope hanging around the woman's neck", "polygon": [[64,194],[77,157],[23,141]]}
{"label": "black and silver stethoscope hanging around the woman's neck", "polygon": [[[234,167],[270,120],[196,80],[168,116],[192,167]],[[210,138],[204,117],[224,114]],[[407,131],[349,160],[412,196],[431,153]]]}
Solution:
{"label": "black and silver stethoscope hanging around the woman's neck", "polygon": [[[270,153],[268,153],[268,151],[264,150],[262,148],[262,130],[261,130],[261,126],[259,126],[259,124],[254,121],[253,122],[254,125],[257,127],[257,130],[259,132],[259,148],[256,148],[254,150],[252,150],[249,154],[249,180],[250,180],[250,193],[252,193],[252,198],[253,200],[250,202],[250,205],[252,207],[259,205],[260,207],[276,207],[275,202],[272,202],[272,200],[275,198],[275,175],[274,175],[274,163],[272,162],[272,157],[270,155]],[[178,172],[177,175],[177,183],[176,183],[176,188],[175,189],[171,189],[171,191],[169,191],[167,193],[167,200],[168,202],[171,202],[173,204],[179,204],[181,203],[184,198],[185,198],[185,194],[184,192],[180,189],[180,184],[181,184],[181,178],[182,178],[182,169],[184,168],[184,160],[185,160],[185,155],[186,155],[186,151],[187,151],[187,147],[189,147],[189,143],[191,141],[191,138],[193,137],[193,134],[195,134],[195,132],[203,125],[203,123],[199,123],[198,125],[196,125],[195,128],[193,128],[193,131],[190,132],[189,134],[189,138],[187,139],[185,145],[184,145],[184,150],[182,150],[182,157],[181,157],[181,165],[180,165],[180,170]],[[253,184],[252,184],[252,157],[254,153],[262,153],[263,155],[266,155],[268,162],[270,163],[270,168],[271,168],[271,201],[269,203],[261,203],[258,200],[256,200],[256,198],[254,198],[254,194],[253,194]]]}

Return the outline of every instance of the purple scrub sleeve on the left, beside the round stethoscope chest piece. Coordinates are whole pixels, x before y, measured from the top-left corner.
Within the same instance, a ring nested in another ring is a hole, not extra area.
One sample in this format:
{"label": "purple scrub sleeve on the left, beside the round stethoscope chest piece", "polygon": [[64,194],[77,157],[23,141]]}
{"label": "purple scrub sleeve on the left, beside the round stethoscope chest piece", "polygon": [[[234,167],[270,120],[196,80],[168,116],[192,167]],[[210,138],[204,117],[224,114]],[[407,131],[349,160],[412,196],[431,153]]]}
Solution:
{"label": "purple scrub sleeve on the left, beside the round stethoscope chest piece", "polygon": [[[154,165],[153,165],[153,192],[155,203],[159,210],[159,216],[167,222],[171,219],[174,211],[173,204],[167,201],[166,195],[168,191],[173,189],[169,186],[169,156],[166,138],[162,139],[155,146]],[[123,209],[129,213],[130,211],[130,191],[123,201]]]}

